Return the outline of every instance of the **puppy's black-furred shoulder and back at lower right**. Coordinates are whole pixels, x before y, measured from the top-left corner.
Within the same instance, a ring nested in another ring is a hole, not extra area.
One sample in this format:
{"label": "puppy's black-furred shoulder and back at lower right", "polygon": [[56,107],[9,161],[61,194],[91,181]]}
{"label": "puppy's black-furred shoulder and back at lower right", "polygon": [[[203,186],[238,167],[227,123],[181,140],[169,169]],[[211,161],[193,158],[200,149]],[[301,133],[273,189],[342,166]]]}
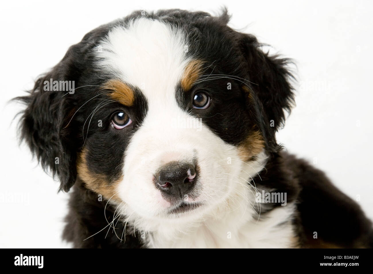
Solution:
{"label": "puppy's black-furred shoulder and back at lower right", "polygon": [[300,187],[295,221],[300,245],[306,248],[372,248],[372,222],[360,205],[342,193],[323,171],[285,152],[281,156]]}

